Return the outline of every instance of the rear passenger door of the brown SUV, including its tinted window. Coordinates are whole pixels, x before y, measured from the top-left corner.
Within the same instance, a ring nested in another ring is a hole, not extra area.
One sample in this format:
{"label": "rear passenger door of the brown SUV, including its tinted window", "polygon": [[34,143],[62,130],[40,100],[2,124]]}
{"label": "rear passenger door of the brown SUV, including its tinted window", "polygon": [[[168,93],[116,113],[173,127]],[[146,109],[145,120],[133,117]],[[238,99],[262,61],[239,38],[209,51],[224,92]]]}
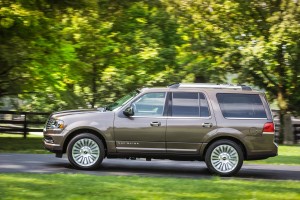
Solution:
{"label": "rear passenger door of the brown SUV, including its tinted window", "polygon": [[166,146],[168,153],[198,154],[203,137],[216,129],[208,101],[202,92],[170,95]]}

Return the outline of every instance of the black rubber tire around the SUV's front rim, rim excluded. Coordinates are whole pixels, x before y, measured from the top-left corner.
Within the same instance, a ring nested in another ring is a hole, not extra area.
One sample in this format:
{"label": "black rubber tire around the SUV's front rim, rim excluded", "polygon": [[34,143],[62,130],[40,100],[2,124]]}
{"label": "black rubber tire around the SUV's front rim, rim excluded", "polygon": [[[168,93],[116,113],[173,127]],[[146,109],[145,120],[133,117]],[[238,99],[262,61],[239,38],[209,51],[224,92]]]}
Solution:
{"label": "black rubber tire around the SUV's front rim, rim excluded", "polygon": [[[75,162],[74,158],[72,157],[72,148],[74,146],[74,144],[80,140],[80,139],[84,139],[84,138],[88,138],[91,139],[93,141],[95,141],[99,147],[100,150],[100,155],[98,160],[91,166],[81,166],[78,163]],[[100,164],[102,163],[104,156],[105,156],[105,150],[104,150],[104,145],[103,142],[95,135],[90,134],[90,133],[81,133],[77,136],[75,136],[74,138],[71,139],[71,141],[68,144],[67,147],[67,156],[68,156],[68,160],[71,163],[71,165],[73,167],[75,167],[76,169],[85,169],[85,170],[89,170],[89,169],[96,169],[100,167]]]}

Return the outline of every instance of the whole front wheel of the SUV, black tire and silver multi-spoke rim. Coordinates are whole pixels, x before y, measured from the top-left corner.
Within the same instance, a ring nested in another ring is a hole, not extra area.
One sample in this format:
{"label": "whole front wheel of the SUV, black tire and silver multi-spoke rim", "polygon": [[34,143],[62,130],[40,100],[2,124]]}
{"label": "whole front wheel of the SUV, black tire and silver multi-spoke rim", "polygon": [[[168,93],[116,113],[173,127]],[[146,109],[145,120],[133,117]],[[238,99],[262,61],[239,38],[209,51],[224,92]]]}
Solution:
{"label": "whole front wheel of the SUV, black tire and silver multi-spoke rim", "polygon": [[96,169],[105,156],[103,142],[90,133],[75,136],[67,147],[69,162],[76,169]]}

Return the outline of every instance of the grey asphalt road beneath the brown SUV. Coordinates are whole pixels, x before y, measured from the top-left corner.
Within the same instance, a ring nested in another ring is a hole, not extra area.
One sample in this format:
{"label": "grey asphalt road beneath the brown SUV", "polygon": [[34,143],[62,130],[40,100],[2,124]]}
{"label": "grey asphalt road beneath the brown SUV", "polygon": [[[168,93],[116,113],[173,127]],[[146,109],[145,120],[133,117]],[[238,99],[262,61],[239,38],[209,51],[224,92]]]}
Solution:
{"label": "grey asphalt road beneath the brown SUV", "polygon": [[[93,171],[76,170],[67,158],[43,154],[0,154],[0,173],[85,173],[210,178],[204,162],[145,159],[104,159]],[[242,179],[300,180],[300,166],[244,164],[235,176]]]}

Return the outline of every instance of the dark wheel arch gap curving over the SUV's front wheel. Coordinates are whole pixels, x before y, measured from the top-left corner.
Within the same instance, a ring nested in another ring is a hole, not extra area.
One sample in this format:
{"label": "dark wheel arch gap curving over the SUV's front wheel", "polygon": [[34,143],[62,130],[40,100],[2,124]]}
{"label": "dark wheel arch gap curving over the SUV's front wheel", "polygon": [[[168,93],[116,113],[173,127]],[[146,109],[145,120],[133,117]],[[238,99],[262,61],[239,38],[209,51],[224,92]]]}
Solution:
{"label": "dark wheel arch gap curving over the SUV's front wheel", "polygon": [[68,144],[70,143],[72,138],[74,138],[77,135],[80,135],[81,133],[90,133],[90,134],[95,135],[96,137],[98,137],[103,142],[104,149],[105,149],[105,155],[107,154],[107,144],[106,144],[105,138],[103,137],[101,132],[96,131],[96,130],[91,129],[91,128],[80,128],[80,129],[76,129],[76,130],[72,131],[64,141],[63,153],[66,153]]}

